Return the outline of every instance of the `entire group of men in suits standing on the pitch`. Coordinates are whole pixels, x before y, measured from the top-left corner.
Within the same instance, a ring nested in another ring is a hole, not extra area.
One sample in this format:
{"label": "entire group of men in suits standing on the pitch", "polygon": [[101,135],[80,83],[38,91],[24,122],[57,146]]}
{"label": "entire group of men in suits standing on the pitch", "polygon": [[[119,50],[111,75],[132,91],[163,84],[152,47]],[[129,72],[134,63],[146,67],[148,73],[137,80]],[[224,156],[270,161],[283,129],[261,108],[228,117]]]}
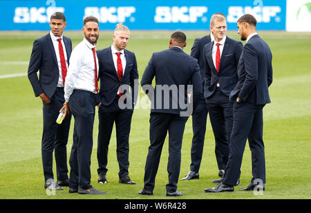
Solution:
{"label": "entire group of men in suits standing on the pitch", "polygon": [[[138,98],[138,68],[135,54],[126,50],[129,28],[118,24],[113,44],[97,51],[95,45],[100,28],[95,17],[84,19],[84,39],[73,51],[70,39],[63,35],[66,18],[62,12],[50,17],[50,28],[49,34],[35,40],[28,68],[35,96],[43,101],[44,187],[62,190],[62,186],[69,186],[70,193],[79,194],[106,193],[91,185],[96,105],[98,183],[107,183],[109,142],[115,123],[119,182],[135,184],[129,177],[129,133]],[[191,56],[183,51],[187,45],[183,32],[171,34],[168,50],[153,53],[141,80],[142,89],[151,100],[151,115],[144,188],[139,194],[153,194],[162,146],[169,132],[167,196],[183,195],[177,191],[177,183],[182,136],[191,114],[194,131],[191,165],[190,172],[182,180],[199,178],[208,112],[221,178],[214,181],[218,183],[216,187],[205,192],[230,192],[238,185],[247,138],[252,151],[253,179],[245,190],[254,189],[256,179],[265,183],[262,110],[270,103],[267,88],[272,83],[272,54],[256,34],[256,19],[252,15],[241,17],[238,29],[241,39],[247,40],[244,48],[241,42],[226,36],[225,16],[217,13],[211,17],[211,34],[195,40]],[[152,86],[154,78],[155,88]],[[57,124],[57,116],[63,110],[64,121]],[[66,144],[71,114],[75,125],[68,178]],[[57,183],[53,175],[53,152]]]}

